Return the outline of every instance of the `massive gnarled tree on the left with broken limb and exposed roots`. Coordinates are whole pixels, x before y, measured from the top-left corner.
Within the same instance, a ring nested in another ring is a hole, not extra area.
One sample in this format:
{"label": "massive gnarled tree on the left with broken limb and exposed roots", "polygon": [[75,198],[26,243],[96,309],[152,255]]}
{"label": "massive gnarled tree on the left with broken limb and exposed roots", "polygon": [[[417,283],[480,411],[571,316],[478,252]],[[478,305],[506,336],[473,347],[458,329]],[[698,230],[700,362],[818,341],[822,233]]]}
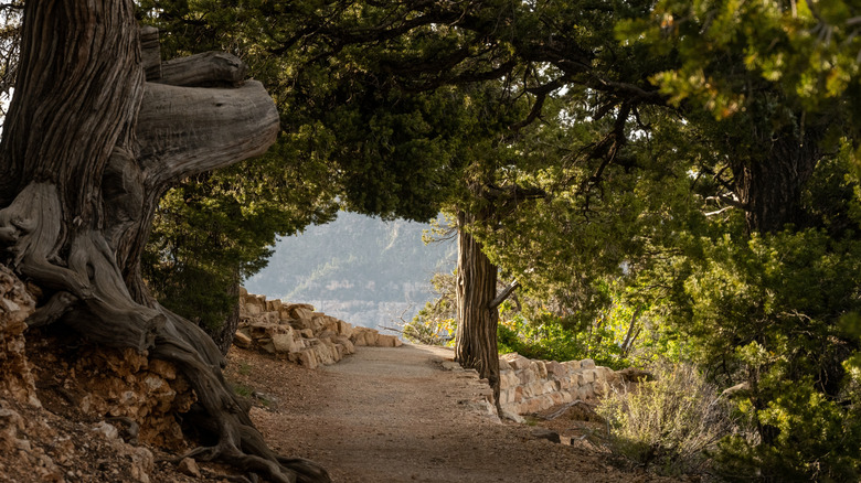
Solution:
{"label": "massive gnarled tree on the left with broken limb and exposed roots", "polygon": [[[199,399],[184,419],[216,441],[189,455],[279,483],[329,481],[317,464],[266,446],[222,377],[217,347],[140,279],[164,190],[261,154],[278,132],[272,98],[242,82],[238,60],[202,54],[162,65],[157,45],[130,0],[26,2],[0,144],[2,261],[43,291],[31,326],[62,323],[177,365]],[[195,87],[204,85],[219,87]]]}

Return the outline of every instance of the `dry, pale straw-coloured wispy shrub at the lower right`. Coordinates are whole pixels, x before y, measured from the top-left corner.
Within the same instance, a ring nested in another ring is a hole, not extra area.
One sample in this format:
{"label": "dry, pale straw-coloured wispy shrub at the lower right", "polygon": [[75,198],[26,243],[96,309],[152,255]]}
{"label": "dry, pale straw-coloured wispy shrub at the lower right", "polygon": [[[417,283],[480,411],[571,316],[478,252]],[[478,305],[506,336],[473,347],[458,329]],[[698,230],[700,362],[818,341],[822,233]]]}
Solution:
{"label": "dry, pale straw-coloured wispy shrub at the lower right", "polygon": [[612,391],[598,405],[610,451],[665,475],[703,473],[709,453],[734,429],[727,405],[691,365],[662,364],[652,373],[656,380]]}

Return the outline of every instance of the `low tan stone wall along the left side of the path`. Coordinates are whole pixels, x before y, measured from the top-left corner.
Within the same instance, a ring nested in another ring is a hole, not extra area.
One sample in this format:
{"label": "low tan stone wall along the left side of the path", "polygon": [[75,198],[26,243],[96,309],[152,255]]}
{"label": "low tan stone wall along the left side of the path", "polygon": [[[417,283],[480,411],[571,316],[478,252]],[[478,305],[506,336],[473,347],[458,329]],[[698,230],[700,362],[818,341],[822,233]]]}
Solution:
{"label": "low tan stone wall along the left side of the path", "polygon": [[284,303],[240,290],[240,328],[233,340],[243,348],[256,348],[316,368],[334,364],[355,352],[357,345],[397,347],[394,335],[353,326],[307,303]]}

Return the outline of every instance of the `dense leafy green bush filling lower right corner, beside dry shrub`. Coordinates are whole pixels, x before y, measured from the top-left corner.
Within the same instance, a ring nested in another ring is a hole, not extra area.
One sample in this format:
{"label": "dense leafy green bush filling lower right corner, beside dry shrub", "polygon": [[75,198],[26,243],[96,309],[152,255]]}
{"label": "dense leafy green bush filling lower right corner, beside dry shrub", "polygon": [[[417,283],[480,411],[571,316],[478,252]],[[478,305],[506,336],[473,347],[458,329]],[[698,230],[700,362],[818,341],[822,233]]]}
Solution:
{"label": "dense leafy green bush filling lower right corner, beside dry shrub", "polygon": [[726,475],[857,479],[861,423],[846,368],[859,341],[841,316],[861,310],[850,276],[861,243],[807,229],[690,239],[688,250],[662,310],[715,380],[750,387],[736,401],[757,438],[722,444]]}

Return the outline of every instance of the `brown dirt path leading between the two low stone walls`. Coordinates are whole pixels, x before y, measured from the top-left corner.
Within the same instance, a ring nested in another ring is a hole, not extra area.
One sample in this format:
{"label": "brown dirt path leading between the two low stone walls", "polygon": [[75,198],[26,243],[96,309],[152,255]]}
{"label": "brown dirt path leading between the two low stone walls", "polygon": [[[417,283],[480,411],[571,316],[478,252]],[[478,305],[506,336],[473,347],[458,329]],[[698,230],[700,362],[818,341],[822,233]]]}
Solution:
{"label": "brown dirt path leading between the two low stone walls", "polygon": [[336,482],[670,481],[481,415],[470,401],[489,389],[444,369],[450,357],[440,347],[358,347],[310,371],[232,350],[227,377],[258,395],[252,417],[274,449],[322,463]]}

